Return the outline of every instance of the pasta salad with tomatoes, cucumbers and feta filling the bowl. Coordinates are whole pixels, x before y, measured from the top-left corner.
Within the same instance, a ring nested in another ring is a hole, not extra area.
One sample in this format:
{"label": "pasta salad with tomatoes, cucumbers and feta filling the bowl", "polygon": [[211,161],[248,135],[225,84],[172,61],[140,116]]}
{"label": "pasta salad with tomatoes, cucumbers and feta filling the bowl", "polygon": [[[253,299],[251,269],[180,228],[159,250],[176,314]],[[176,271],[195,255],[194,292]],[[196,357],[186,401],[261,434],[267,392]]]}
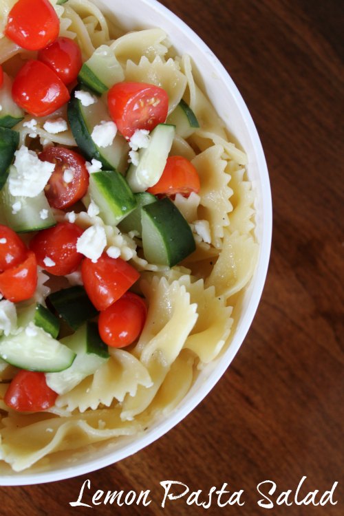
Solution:
{"label": "pasta salad with tomatoes, cucumbers and feta filling the bowl", "polygon": [[39,471],[139,436],[222,352],[254,193],[162,29],[0,0],[0,63],[0,471]]}

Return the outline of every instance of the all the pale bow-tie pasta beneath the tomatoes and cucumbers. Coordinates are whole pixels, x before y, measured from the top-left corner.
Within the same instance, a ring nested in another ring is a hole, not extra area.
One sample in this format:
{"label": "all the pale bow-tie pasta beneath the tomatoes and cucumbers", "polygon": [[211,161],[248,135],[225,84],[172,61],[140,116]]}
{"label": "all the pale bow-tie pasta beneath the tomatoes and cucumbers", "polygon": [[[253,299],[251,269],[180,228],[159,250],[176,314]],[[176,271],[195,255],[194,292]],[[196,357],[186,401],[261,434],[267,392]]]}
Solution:
{"label": "all the pale bow-tie pasta beneath the tomatoes and cucumbers", "polygon": [[[149,306],[144,330],[129,351],[110,348],[109,361],[41,413],[8,409],[3,396],[15,369],[2,367],[0,471],[7,471],[8,464],[14,471],[33,464],[35,471],[47,469],[56,452],[73,453],[105,440],[140,436],[175,410],[200,369],[229,345],[233,306],[252,277],[258,255],[255,195],[246,176],[246,154],[228,141],[224,122],[195,84],[191,58],[176,56],[160,28],[123,35],[87,0],[68,0],[61,6],[50,1],[61,19],[61,35],[76,39],[84,61],[99,45],[109,45],[126,80],[166,89],[169,112],[182,98],[190,105],[200,128],[187,140],[177,134],[171,153],[193,162],[201,189],[187,198],[178,194],[174,202],[191,228],[197,221],[206,221],[209,236],[202,239],[195,232],[196,251],[170,269],[147,263],[133,238],[106,226],[108,242],[120,246],[122,258],[141,272],[140,290]],[[2,34],[13,4],[14,0],[0,0],[0,63],[8,73],[32,55]],[[25,127],[30,118],[15,127],[21,144],[30,138],[30,128]],[[43,129],[43,122],[38,119],[36,129],[41,138],[76,145],[70,130],[52,135]],[[76,218],[76,224],[85,228],[94,222],[85,212]],[[49,292],[46,279],[42,272],[39,292],[43,297]]]}

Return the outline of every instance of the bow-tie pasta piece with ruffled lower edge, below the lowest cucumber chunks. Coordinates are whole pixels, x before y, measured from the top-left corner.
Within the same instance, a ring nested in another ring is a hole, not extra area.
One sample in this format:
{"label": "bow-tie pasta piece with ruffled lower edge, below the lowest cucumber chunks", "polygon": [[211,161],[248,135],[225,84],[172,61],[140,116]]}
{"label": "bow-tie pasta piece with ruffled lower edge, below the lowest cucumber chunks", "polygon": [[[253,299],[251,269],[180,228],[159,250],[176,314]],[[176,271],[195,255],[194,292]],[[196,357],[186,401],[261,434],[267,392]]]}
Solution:
{"label": "bow-tie pasta piece with ruffled lower edge, below the lowest cucumber chunks", "polygon": [[147,368],[125,350],[111,349],[111,358],[74,389],[58,396],[56,407],[68,411],[97,409],[100,404],[109,407],[114,400],[122,401],[126,394],[135,396],[138,387],[151,387]]}

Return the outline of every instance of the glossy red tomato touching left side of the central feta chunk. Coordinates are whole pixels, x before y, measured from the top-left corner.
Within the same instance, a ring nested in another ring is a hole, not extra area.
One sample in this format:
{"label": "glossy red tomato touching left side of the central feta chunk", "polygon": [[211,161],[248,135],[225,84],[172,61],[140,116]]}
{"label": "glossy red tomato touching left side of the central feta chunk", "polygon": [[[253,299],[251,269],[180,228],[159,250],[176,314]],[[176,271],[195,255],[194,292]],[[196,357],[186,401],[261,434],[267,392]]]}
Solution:
{"label": "glossy red tomato touching left side of the central feta chunk", "polygon": [[[39,266],[55,276],[65,276],[74,272],[83,259],[83,255],[76,250],[76,241],[82,234],[83,230],[76,224],[59,222],[53,228],[39,231],[29,246],[34,251]],[[55,265],[47,264],[47,259],[52,260]]]}

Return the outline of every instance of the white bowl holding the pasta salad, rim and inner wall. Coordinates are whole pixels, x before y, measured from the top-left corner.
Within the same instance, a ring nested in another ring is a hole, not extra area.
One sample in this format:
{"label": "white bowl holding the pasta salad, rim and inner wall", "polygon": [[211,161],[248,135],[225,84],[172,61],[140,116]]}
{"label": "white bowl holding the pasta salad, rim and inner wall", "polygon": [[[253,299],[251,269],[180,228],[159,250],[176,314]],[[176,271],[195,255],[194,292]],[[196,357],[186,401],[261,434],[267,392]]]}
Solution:
{"label": "white bowl holding the pasta salad, rim and inner wall", "polygon": [[[181,54],[189,54],[202,76],[202,88],[211,99],[217,113],[223,118],[230,133],[239,140],[248,154],[248,175],[256,193],[256,236],[259,242],[259,261],[255,275],[246,288],[241,312],[232,341],[226,352],[208,364],[200,373],[189,394],[178,409],[151,427],[144,436],[120,440],[119,444],[105,443],[69,466],[54,464],[54,469],[41,473],[12,473],[0,477],[0,485],[41,484],[83,475],[114,464],[168,432],[200,403],[221,378],[237,354],[255,316],[264,287],[272,235],[272,206],[270,182],[264,152],[250,113],[226,69],[205,43],[183,21],[155,0],[96,0],[95,3],[109,14],[113,12],[125,30],[159,27],[169,34],[173,46]],[[128,6],[130,6],[128,8]],[[202,74],[202,70],[206,73]]]}

